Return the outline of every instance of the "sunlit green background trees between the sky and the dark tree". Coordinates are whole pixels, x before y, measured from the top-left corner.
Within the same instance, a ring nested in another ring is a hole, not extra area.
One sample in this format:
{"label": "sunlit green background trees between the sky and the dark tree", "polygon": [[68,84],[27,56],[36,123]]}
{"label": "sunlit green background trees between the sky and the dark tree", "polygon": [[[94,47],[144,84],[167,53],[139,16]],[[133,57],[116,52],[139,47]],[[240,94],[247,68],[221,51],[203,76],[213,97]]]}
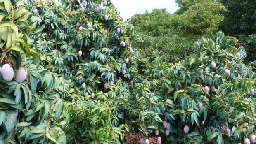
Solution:
{"label": "sunlit green background trees between the sky and the dark tree", "polygon": [[175,63],[194,53],[191,47],[202,35],[214,35],[223,20],[224,9],[212,0],[176,0],[180,9],[170,14],[166,9],[135,14],[129,23],[135,26],[141,42],[142,56],[150,62],[158,56],[161,60]]}

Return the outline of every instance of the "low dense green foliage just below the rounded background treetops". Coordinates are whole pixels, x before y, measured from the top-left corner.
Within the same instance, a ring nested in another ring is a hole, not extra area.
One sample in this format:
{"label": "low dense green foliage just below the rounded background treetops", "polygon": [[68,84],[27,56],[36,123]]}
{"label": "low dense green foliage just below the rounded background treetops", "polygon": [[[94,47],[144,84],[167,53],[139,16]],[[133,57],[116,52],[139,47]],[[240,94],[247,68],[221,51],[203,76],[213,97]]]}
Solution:
{"label": "low dense green foliage just below the rounded background treetops", "polygon": [[140,47],[141,55],[153,62],[156,57],[168,63],[176,63],[183,60],[191,53],[194,53],[193,42],[199,39],[198,35],[189,35],[182,37],[175,34],[159,35],[153,37],[144,33],[140,33],[140,42],[135,43],[136,47]]}

